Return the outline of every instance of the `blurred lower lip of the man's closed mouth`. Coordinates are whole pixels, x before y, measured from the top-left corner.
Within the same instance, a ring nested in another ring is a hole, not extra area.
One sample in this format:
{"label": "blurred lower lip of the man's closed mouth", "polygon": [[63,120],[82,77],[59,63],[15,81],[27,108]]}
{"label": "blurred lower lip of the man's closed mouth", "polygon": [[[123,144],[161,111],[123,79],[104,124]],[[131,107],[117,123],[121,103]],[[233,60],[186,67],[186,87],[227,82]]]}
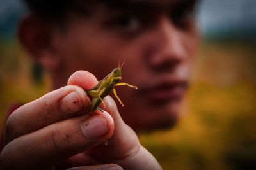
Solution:
{"label": "blurred lower lip of the man's closed mouth", "polygon": [[157,89],[148,92],[147,97],[150,103],[166,103],[180,101],[184,96],[185,88],[181,85],[170,87],[170,89]]}

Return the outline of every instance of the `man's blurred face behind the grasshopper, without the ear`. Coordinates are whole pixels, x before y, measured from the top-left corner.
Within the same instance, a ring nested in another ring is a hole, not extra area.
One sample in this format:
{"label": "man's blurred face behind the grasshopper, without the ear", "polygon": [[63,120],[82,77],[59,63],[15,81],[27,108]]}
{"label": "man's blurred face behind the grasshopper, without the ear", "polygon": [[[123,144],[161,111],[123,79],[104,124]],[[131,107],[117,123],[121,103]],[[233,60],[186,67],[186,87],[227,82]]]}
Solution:
{"label": "man's blurred face behind the grasshopper, without the ear", "polygon": [[[64,29],[54,31],[53,42],[61,67],[52,74],[55,87],[83,69],[101,80],[122,67],[116,100],[124,121],[134,130],[153,129],[176,122],[188,88],[198,49],[193,0],[131,1],[95,4],[87,17],[73,14]],[[114,97],[115,98],[115,97]]]}

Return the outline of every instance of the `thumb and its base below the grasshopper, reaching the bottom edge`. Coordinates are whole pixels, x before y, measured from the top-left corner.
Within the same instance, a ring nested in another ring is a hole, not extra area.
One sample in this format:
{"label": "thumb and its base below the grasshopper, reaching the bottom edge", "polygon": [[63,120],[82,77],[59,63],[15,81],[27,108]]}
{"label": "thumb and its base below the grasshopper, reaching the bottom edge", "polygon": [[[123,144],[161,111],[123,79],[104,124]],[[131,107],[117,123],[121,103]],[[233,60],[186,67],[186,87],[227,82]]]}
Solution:
{"label": "thumb and its base below the grasshopper, reaching the bottom edge", "polygon": [[104,102],[106,107],[101,107],[108,111],[113,118],[115,130],[108,140],[107,146],[98,145],[86,152],[86,155],[97,157],[104,162],[119,164],[124,169],[161,169],[154,156],[141,146],[136,133],[124,123],[118,113],[115,101],[107,96]]}

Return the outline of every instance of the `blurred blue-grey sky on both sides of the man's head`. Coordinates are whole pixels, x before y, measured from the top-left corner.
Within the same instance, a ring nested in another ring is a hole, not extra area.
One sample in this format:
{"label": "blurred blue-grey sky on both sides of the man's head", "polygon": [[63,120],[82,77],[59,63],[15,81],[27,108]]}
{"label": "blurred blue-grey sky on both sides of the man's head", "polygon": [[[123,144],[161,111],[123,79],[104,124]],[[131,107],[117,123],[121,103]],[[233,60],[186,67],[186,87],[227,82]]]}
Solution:
{"label": "blurred blue-grey sky on both sides of the man's head", "polygon": [[[202,0],[198,9],[198,21],[204,34],[255,33],[256,0]],[[13,35],[24,11],[22,0],[0,1],[0,36]]]}

